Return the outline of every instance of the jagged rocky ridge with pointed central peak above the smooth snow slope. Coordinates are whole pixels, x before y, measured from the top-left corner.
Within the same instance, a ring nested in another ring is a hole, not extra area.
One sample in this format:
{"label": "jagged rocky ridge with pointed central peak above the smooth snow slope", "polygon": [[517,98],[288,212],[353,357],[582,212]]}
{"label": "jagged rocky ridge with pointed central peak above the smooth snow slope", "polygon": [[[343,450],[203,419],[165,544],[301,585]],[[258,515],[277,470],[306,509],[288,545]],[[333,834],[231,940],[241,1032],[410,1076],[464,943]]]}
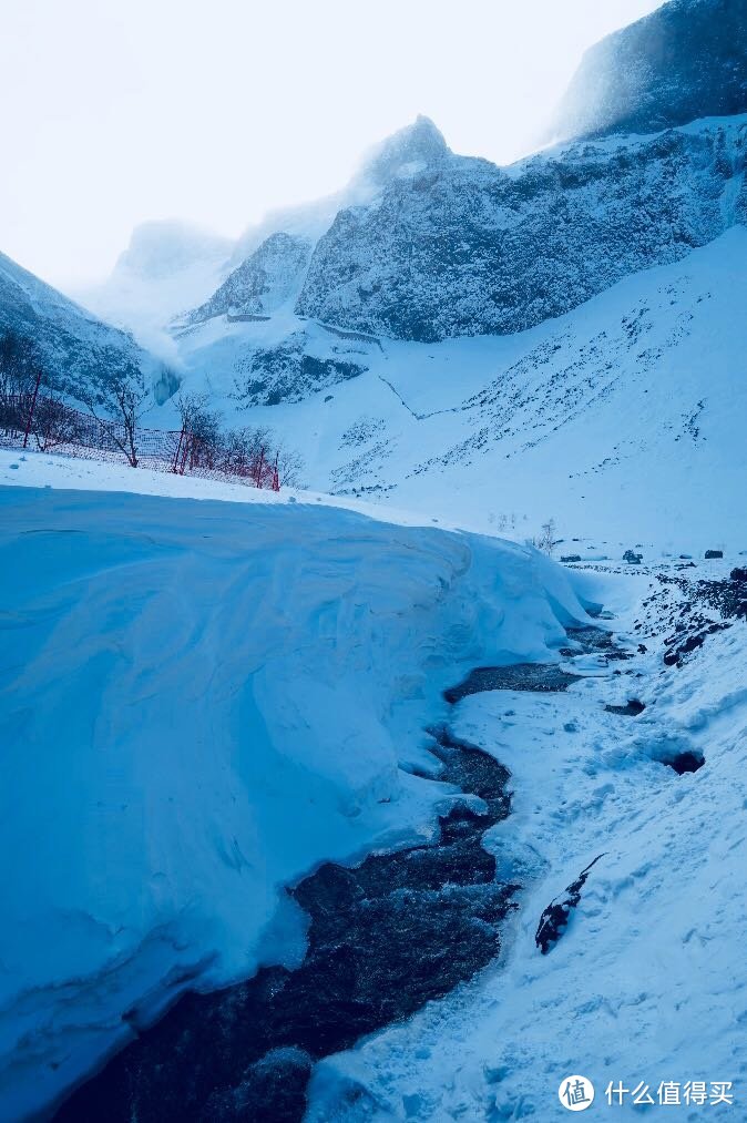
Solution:
{"label": "jagged rocky ridge with pointed central peak above the smooth snow slope", "polygon": [[[745,3],[729,9],[738,24]],[[650,45],[656,20],[682,30],[692,19],[690,43],[719,4],[673,0],[618,38]],[[703,36],[698,56],[711,85],[721,42]],[[732,103],[747,75],[735,52],[723,90],[704,100],[701,83],[690,111]],[[746,167],[747,116],[571,140],[509,168],[455,155],[419,117],[338,195],[277,211],[239,239],[220,284],[177,323],[185,376],[233,385],[231,409],[298,402],[364,372],[372,337],[429,346],[526,331],[744,225]],[[257,318],[266,323],[234,322]]]}

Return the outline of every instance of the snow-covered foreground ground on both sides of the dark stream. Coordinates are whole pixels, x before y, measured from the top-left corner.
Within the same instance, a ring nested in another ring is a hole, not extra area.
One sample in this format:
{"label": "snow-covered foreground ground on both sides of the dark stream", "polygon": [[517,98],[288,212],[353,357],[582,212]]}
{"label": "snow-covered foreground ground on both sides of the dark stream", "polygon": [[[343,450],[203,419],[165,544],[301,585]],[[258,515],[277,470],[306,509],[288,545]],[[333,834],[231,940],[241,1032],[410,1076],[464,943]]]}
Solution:
{"label": "snow-covered foreground ground on both sides of the dark stream", "polygon": [[[571,1072],[601,1104],[618,1079],[744,1095],[739,556],[562,569],[355,501],[42,454],[0,454],[0,484],[3,1117],[128,1041],[63,1119],[300,1119],[285,1092],[300,1080],[302,1105],[309,1071],[325,1123],[562,1117]],[[295,977],[299,900],[315,924],[328,907],[309,896],[320,861],[437,856],[437,815],[481,813],[438,780],[439,722],[510,774],[482,841],[514,897],[500,955],[353,1050],[309,1057],[291,1017],[283,1048],[226,1076],[242,1004],[257,1016],[233,983]],[[596,858],[543,955],[540,917]],[[212,1014],[177,1003],[148,1030],[185,988],[226,986]],[[211,1041],[206,1106],[184,1097]]]}

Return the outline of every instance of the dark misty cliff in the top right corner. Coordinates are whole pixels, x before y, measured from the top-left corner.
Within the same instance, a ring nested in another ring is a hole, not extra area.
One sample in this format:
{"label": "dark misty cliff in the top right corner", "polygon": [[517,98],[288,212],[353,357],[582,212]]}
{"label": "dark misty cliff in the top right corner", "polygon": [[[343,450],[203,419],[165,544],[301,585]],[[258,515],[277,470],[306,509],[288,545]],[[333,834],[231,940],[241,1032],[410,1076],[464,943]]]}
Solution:
{"label": "dark misty cliff in the top right corner", "polygon": [[744,112],[747,0],[671,0],[586,53],[553,131],[655,133]]}

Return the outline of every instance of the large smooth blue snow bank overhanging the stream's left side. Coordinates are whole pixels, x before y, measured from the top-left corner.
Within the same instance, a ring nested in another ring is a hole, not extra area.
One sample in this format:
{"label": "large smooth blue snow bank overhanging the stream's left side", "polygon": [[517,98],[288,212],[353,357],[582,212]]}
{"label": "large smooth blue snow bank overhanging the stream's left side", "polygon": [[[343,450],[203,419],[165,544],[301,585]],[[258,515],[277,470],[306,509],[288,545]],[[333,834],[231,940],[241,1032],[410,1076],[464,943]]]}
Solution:
{"label": "large smooth blue snow bank overhanging the stream's left side", "polygon": [[583,610],[532,550],[322,502],[0,487],[0,1114],[20,1119],[188,982],[298,961],[282,886],[431,832],[448,789],[398,761],[439,691],[546,658]]}

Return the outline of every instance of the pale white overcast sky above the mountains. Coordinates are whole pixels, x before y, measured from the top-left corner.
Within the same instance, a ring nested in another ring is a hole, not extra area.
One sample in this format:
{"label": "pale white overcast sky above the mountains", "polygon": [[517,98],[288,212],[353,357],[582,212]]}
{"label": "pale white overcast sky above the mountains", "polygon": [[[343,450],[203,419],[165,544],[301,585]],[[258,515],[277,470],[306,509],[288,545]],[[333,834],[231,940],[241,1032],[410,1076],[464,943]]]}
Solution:
{"label": "pale white overcast sky above the mountains", "polygon": [[237,235],[419,112],[530,150],[582,52],[661,0],[1,0],[0,249],[63,287],[133,227]]}

